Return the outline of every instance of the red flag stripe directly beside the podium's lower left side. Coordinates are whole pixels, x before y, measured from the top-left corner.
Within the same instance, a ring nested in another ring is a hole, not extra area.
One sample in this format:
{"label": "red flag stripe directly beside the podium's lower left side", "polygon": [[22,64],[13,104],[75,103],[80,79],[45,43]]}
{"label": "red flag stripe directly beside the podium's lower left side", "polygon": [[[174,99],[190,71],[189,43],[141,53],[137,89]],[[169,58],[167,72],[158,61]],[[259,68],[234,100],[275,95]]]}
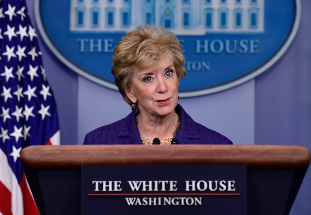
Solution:
{"label": "red flag stripe directly beside the podium's lower left side", "polygon": [[34,202],[34,199],[32,198],[32,195],[30,193],[30,190],[28,189],[25,174],[23,173],[23,178],[21,179],[20,183],[21,192],[23,194],[23,204],[24,204],[24,215],[32,215],[32,214],[38,214],[37,206]]}

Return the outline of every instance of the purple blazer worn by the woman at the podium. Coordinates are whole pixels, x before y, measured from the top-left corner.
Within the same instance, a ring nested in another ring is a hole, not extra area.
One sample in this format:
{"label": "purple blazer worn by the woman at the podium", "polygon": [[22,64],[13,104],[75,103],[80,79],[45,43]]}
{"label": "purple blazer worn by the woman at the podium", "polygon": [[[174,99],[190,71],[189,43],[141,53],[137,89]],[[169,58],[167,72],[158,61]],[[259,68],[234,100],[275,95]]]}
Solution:
{"label": "purple blazer worn by the woman at the podium", "polygon": [[[180,116],[175,136],[179,144],[232,144],[227,137],[194,122],[179,104],[175,112]],[[124,119],[91,131],[86,134],[83,144],[142,144],[135,114],[130,113]]]}

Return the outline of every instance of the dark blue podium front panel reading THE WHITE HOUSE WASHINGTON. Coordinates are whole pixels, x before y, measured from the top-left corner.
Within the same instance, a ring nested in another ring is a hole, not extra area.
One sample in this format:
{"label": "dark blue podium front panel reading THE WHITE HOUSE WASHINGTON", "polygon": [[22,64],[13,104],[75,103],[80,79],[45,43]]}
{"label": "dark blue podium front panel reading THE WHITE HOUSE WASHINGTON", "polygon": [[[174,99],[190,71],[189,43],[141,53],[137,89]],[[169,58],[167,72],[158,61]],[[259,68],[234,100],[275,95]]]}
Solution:
{"label": "dark blue podium front panel reading THE WHITE HOUSE WASHINGTON", "polygon": [[81,166],[81,214],[247,214],[246,165]]}

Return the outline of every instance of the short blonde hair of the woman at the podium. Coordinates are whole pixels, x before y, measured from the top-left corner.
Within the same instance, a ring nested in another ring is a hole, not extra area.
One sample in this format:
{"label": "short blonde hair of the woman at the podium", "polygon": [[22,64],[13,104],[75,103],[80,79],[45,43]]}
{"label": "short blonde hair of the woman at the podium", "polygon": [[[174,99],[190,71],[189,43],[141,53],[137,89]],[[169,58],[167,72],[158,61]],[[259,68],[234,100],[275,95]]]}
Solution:
{"label": "short blonde hair of the woman at the podium", "polygon": [[182,79],[186,74],[183,47],[173,32],[161,26],[137,26],[134,31],[123,36],[114,48],[111,74],[124,100],[132,105],[125,94],[130,88],[134,69],[147,69],[157,65],[161,57],[169,55],[173,60],[177,77]]}

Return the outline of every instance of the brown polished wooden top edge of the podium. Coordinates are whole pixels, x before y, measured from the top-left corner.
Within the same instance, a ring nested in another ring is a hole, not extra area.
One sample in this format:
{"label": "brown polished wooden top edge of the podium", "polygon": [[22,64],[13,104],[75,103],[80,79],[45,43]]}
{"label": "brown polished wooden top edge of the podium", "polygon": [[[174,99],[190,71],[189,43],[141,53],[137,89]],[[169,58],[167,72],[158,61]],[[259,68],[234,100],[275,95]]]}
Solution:
{"label": "brown polished wooden top edge of the podium", "polygon": [[28,146],[21,162],[31,169],[81,165],[247,165],[248,169],[307,169],[310,151],[297,145],[61,145]]}

